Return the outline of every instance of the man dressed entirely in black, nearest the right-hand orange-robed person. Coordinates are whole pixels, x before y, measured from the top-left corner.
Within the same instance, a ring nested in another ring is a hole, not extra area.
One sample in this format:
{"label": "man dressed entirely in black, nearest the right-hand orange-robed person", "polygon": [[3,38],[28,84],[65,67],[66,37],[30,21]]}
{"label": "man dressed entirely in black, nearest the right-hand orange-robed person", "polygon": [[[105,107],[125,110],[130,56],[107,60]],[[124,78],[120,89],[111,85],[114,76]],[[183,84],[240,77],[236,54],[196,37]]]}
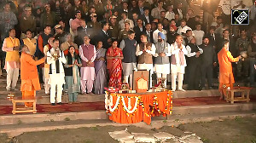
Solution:
{"label": "man dressed entirely in black, nearest the right-hand orange-robed person", "polygon": [[217,55],[212,44],[209,43],[209,37],[204,37],[203,44],[200,45],[200,48],[204,51],[204,53],[201,54],[201,89],[206,89],[206,77],[208,88],[212,89],[212,67],[217,66]]}

